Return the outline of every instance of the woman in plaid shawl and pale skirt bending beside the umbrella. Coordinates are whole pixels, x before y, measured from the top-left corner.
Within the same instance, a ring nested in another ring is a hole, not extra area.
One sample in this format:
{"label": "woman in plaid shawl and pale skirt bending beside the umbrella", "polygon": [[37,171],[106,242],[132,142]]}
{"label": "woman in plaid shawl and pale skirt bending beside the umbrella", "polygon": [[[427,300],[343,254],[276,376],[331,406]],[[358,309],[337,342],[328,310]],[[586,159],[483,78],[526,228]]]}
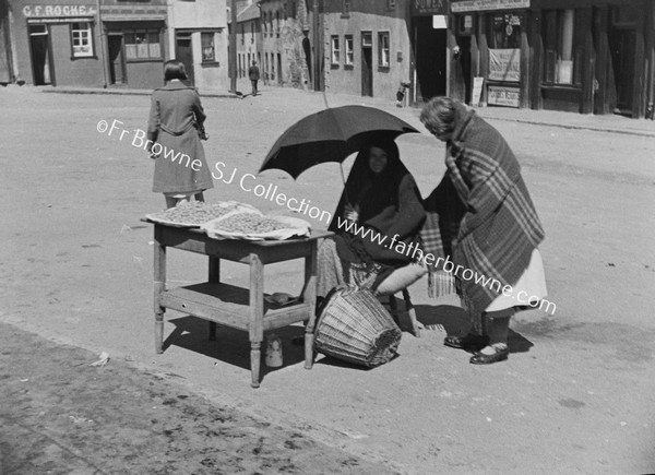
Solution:
{"label": "woman in plaid shawl and pale skirt bending beside the umbrella", "polygon": [[472,364],[504,360],[510,318],[546,297],[541,223],[496,129],[449,97],[431,99],[420,120],[446,144],[446,173],[425,202],[431,226],[421,233],[424,250],[436,258],[428,262],[431,281],[443,271],[454,275],[473,323],[467,335],[444,344],[476,352]]}

